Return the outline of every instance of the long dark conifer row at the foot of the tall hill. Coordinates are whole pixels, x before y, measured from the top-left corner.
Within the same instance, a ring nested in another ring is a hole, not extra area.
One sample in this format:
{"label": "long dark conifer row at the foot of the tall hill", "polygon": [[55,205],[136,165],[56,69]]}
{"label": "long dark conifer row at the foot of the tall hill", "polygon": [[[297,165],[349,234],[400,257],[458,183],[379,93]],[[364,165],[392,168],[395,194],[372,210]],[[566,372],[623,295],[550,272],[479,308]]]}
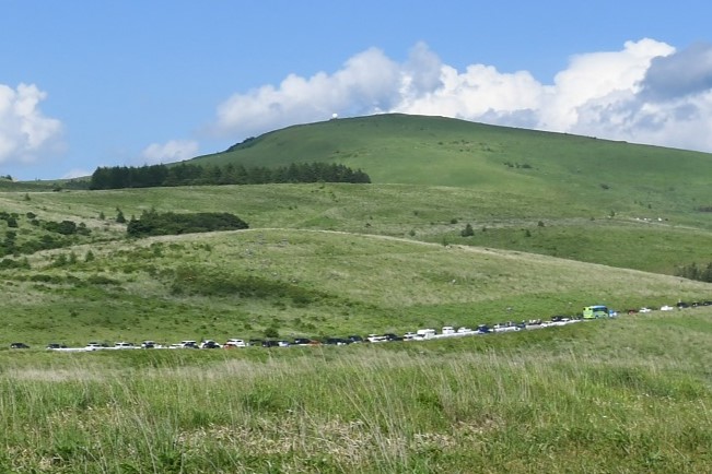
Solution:
{"label": "long dark conifer row at the foot of the tall hill", "polygon": [[371,182],[369,175],[345,165],[292,163],[279,168],[178,165],[98,167],[92,174],[90,189],[155,188],[208,185],[266,185],[271,182]]}

